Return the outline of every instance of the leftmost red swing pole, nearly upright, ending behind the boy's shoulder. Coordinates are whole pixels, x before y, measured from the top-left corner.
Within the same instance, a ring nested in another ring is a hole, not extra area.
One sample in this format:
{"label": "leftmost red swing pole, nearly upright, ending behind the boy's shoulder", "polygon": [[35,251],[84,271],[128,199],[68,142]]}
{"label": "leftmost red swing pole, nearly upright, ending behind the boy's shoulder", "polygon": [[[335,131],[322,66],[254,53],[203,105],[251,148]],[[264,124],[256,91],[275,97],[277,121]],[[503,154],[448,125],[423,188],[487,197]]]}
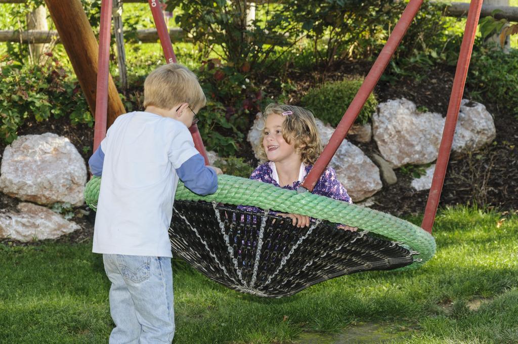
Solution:
{"label": "leftmost red swing pole, nearly upright, ending behind the boy's shoulder", "polygon": [[99,147],[100,142],[106,137],[111,9],[112,0],[102,0],[100,5],[97,88],[95,91],[94,152]]}

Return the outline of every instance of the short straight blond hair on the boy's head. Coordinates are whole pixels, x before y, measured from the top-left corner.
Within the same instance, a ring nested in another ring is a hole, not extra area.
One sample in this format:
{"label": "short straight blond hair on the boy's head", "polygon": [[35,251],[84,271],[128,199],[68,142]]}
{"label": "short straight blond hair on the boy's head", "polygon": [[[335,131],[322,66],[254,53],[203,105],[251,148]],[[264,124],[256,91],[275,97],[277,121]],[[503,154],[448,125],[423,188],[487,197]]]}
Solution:
{"label": "short straight blond hair on the boy's head", "polygon": [[170,110],[180,103],[189,103],[192,109],[199,109],[206,102],[196,75],[180,64],[160,66],[144,81],[144,108],[155,106]]}

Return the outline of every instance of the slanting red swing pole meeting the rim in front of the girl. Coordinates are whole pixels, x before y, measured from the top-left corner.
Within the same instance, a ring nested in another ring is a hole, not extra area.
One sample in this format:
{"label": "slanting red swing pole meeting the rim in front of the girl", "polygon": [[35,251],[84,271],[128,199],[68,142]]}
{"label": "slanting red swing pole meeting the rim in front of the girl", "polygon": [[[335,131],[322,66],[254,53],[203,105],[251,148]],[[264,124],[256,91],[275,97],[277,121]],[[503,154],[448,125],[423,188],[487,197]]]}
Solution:
{"label": "slanting red swing pole meeting the rim in front of the girl", "polygon": [[[414,19],[422,3],[423,0],[410,0],[408,3],[407,7],[401,14],[401,18],[389,36],[389,39],[387,39],[385,46],[383,49],[381,49],[378,58],[370,68],[369,74],[367,74],[365,77],[362,86],[354,96],[351,104],[349,104],[346,113],[343,114],[343,117],[340,120],[340,123],[338,123],[335,132],[329,139],[329,142],[324,148],[322,154],[320,154],[319,159],[316,160],[315,164],[309,171],[308,176],[304,180],[304,183],[301,185],[301,188],[304,188],[310,192],[313,191],[316,182],[319,180],[324,169],[329,164],[329,161],[331,161],[333,158],[333,155],[335,155],[336,150],[341,145],[343,139],[346,137],[347,132],[353,125],[356,117],[358,117],[359,111],[362,110],[362,107],[365,105],[367,98],[378,83],[381,75],[383,74],[383,71],[389,64],[392,55],[394,55],[394,52],[399,46],[401,39],[403,36],[405,36],[410,23],[412,23],[412,20]],[[301,189],[300,192],[303,192],[304,189]]]}

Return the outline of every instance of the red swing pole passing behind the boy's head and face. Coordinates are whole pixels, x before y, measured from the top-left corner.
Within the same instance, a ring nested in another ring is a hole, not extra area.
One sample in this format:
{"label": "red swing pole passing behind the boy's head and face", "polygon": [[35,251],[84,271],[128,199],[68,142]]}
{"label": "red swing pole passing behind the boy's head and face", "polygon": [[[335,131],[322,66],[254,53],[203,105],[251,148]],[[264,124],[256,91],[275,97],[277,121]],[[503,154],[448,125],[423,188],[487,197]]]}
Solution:
{"label": "red swing pole passing behind the boy's head and face", "polygon": [[[149,7],[151,8],[151,13],[153,14],[156,32],[159,35],[162,50],[164,50],[165,59],[167,63],[176,63],[176,55],[172,50],[171,37],[169,36],[167,25],[165,24],[162,5],[159,0],[148,0],[148,2]],[[199,134],[198,125],[191,125],[189,131],[193,137],[194,147],[200,154],[202,154],[203,158],[205,159],[205,165],[209,165],[209,158],[203,144],[202,136]]]}

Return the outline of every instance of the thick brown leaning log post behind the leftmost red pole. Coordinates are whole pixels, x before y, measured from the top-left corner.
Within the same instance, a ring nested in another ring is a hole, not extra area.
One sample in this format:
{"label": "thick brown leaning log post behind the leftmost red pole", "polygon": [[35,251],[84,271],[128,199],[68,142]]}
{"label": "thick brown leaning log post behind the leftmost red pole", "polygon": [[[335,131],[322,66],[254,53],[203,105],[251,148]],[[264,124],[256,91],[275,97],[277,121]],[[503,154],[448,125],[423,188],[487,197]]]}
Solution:
{"label": "thick brown leaning log post behind the leftmost red pole", "polygon": [[[95,113],[97,87],[98,45],[80,0],[45,0],[56,25],[61,42],[87,98],[90,111]],[[120,114],[125,113],[119,92],[111,76],[108,80],[108,127]]]}

